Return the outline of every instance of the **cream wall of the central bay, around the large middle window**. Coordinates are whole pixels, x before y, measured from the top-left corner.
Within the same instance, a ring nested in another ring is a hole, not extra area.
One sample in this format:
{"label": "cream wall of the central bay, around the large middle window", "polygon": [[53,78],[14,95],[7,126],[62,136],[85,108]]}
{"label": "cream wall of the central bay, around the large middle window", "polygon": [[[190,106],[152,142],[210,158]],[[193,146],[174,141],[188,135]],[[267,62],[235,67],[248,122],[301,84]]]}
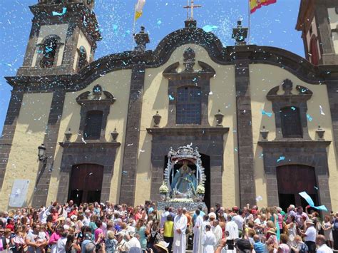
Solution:
{"label": "cream wall of the central bay, around the large middle window", "polygon": [[[210,59],[208,52],[201,46],[186,44],[178,47],[169,61],[158,68],[147,68],[145,71],[145,88],[143,94],[142,119],[140,127],[140,151],[138,153],[138,174],[135,191],[135,205],[143,203],[150,197],[151,182],[151,136],[146,128],[153,127],[153,115],[158,111],[162,116],[160,128],[168,123],[168,79],[162,73],[171,64],[179,61],[178,71],[183,71],[183,52],[193,48],[196,53],[195,70],[198,70],[198,61],[208,63],[215,69],[216,75],[210,79],[210,94],[208,104],[208,119],[211,126],[215,126],[217,110],[224,114],[223,125],[230,131],[225,134],[223,172],[222,172],[222,202],[226,205],[239,205],[239,182],[237,169],[237,135],[235,115],[235,69],[234,66],[222,66]],[[184,128],[184,126],[183,126]],[[190,143],[181,143],[186,145]],[[194,143],[193,143],[194,145]],[[170,148],[170,147],[168,147]],[[168,149],[169,151],[169,149]],[[164,157],[163,157],[164,166]],[[164,167],[163,167],[164,169]]]}

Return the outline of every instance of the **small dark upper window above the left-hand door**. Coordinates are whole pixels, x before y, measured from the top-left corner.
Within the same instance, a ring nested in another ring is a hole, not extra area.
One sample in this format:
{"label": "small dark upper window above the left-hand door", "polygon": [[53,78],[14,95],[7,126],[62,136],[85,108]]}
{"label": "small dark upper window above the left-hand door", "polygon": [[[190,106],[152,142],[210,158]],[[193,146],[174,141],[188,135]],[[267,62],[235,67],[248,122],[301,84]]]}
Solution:
{"label": "small dark upper window above the left-hand door", "polygon": [[101,137],[103,112],[101,110],[90,110],[86,116],[83,139],[98,140]]}

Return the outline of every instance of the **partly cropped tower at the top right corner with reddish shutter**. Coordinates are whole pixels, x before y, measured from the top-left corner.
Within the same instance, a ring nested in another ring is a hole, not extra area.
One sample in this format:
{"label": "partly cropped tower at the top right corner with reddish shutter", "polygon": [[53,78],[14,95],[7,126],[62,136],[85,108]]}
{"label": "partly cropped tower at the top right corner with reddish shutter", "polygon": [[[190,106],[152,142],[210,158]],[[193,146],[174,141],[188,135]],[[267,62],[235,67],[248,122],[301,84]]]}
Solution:
{"label": "partly cropped tower at the top right corner with reddish shutter", "polygon": [[338,1],[301,0],[296,29],[314,65],[338,64]]}

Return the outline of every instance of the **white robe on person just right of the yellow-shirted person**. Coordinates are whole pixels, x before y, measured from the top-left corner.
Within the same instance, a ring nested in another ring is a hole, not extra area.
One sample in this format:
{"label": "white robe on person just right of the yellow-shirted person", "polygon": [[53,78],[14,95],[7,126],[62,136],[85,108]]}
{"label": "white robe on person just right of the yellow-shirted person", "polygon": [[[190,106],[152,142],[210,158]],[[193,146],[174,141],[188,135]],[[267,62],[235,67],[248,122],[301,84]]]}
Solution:
{"label": "white robe on person just right of the yellow-shirted person", "polygon": [[[173,253],[185,253],[185,229],[187,229],[188,219],[185,215],[176,215],[174,219],[174,241]],[[180,234],[176,231],[180,229]]]}

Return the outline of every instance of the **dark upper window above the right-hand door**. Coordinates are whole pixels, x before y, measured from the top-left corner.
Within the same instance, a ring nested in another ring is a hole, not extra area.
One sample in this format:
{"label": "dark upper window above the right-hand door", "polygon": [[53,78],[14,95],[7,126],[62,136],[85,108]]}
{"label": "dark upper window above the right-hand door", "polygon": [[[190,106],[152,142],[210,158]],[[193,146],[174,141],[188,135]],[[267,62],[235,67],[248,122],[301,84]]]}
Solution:
{"label": "dark upper window above the right-hand door", "polygon": [[303,138],[299,108],[288,106],[280,109],[283,138]]}

